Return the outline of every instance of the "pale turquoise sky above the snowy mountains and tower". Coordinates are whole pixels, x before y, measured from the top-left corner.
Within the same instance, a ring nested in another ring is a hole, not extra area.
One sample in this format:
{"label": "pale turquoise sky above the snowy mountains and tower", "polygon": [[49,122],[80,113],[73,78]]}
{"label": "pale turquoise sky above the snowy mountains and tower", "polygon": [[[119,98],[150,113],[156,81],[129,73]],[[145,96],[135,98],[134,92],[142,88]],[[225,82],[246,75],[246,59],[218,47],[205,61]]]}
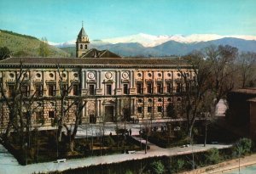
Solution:
{"label": "pale turquoise sky above the snowy mountains and tower", "polygon": [[256,0],[0,0],[0,29],[67,42],[150,35],[256,36]]}

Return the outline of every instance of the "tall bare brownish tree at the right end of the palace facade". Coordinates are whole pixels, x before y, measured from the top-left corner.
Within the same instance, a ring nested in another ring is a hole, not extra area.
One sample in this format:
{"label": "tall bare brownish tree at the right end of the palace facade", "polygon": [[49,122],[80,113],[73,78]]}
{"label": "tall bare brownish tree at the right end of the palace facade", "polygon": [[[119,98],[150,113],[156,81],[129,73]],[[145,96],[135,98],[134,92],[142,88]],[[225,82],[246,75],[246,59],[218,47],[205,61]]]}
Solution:
{"label": "tall bare brownish tree at the right end of the palace facade", "polygon": [[199,117],[202,109],[205,106],[205,98],[208,98],[208,92],[210,90],[211,76],[210,67],[204,60],[204,56],[200,52],[189,54],[184,58],[191,66],[190,72],[182,70],[177,67],[181,74],[181,80],[183,86],[183,98],[182,98],[182,113],[187,118],[187,135],[192,138],[192,131],[195,124],[195,119]]}

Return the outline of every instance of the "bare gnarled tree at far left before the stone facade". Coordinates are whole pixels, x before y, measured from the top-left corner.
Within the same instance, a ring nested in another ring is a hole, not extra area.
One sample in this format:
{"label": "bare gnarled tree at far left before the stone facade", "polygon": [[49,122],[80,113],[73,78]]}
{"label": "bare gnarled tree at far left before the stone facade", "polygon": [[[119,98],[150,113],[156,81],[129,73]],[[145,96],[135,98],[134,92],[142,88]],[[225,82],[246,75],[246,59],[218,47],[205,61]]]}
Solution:
{"label": "bare gnarled tree at far left before the stone facade", "polygon": [[[19,70],[13,73],[14,81],[11,81],[8,86],[5,86],[3,80],[0,83],[1,101],[6,104],[9,109],[8,124],[3,134],[3,141],[9,142],[10,132],[13,129],[17,132],[20,141],[20,149],[24,148],[25,138],[29,139],[31,117],[37,106],[34,104],[34,94],[30,94],[28,87],[29,70],[24,70],[22,61],[20,60]],[[6,93],[9,88],[9,95]],[[26,135],[25,131],[26,130]]]}

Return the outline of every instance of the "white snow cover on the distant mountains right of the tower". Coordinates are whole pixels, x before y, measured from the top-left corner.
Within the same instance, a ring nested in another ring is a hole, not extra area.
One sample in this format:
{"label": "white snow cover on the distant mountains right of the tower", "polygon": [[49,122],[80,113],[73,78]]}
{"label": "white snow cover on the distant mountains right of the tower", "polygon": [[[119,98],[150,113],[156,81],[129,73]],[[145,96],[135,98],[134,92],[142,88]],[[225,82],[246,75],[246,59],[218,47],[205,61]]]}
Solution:
{"label": "white snow cover on the distant mountains right of the tower", "polygon": [[148,35],[144,33],[139,33],[137,35],[131,36],[121,36],[121,37],[114,37],[109,39],[103,39],[103,42],[110,42],[110,43],[128,43],[128,42],[138,42],[142,44],[144,47],[155,47],[164,42],[168,41],[175,41],[181,43],[192,43],[192,42],[207,42],[213,41],[217,39],[221,39],[224,37],[233,37],[233,38],[240,38],[244,40],[256,40],[256,36],[221,36],[216,34],[193,34],[189,36],[183,35]]}

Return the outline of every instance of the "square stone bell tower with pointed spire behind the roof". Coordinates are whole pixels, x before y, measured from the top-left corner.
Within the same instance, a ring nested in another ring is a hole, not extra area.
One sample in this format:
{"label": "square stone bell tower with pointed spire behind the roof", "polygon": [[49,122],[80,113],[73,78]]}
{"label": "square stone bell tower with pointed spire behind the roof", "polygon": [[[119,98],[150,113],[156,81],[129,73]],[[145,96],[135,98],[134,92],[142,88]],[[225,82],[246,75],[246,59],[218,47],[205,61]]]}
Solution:
{"label": "square stone bell tower with pointed spire behind the roof", "polygon": [[84,31],[84,25],[82,25],[82,28],[79,32],[79,36],[76,42],[76,57],[80,58],[82,57],[83,53],[86,53],[89,50],[89,37]]}

